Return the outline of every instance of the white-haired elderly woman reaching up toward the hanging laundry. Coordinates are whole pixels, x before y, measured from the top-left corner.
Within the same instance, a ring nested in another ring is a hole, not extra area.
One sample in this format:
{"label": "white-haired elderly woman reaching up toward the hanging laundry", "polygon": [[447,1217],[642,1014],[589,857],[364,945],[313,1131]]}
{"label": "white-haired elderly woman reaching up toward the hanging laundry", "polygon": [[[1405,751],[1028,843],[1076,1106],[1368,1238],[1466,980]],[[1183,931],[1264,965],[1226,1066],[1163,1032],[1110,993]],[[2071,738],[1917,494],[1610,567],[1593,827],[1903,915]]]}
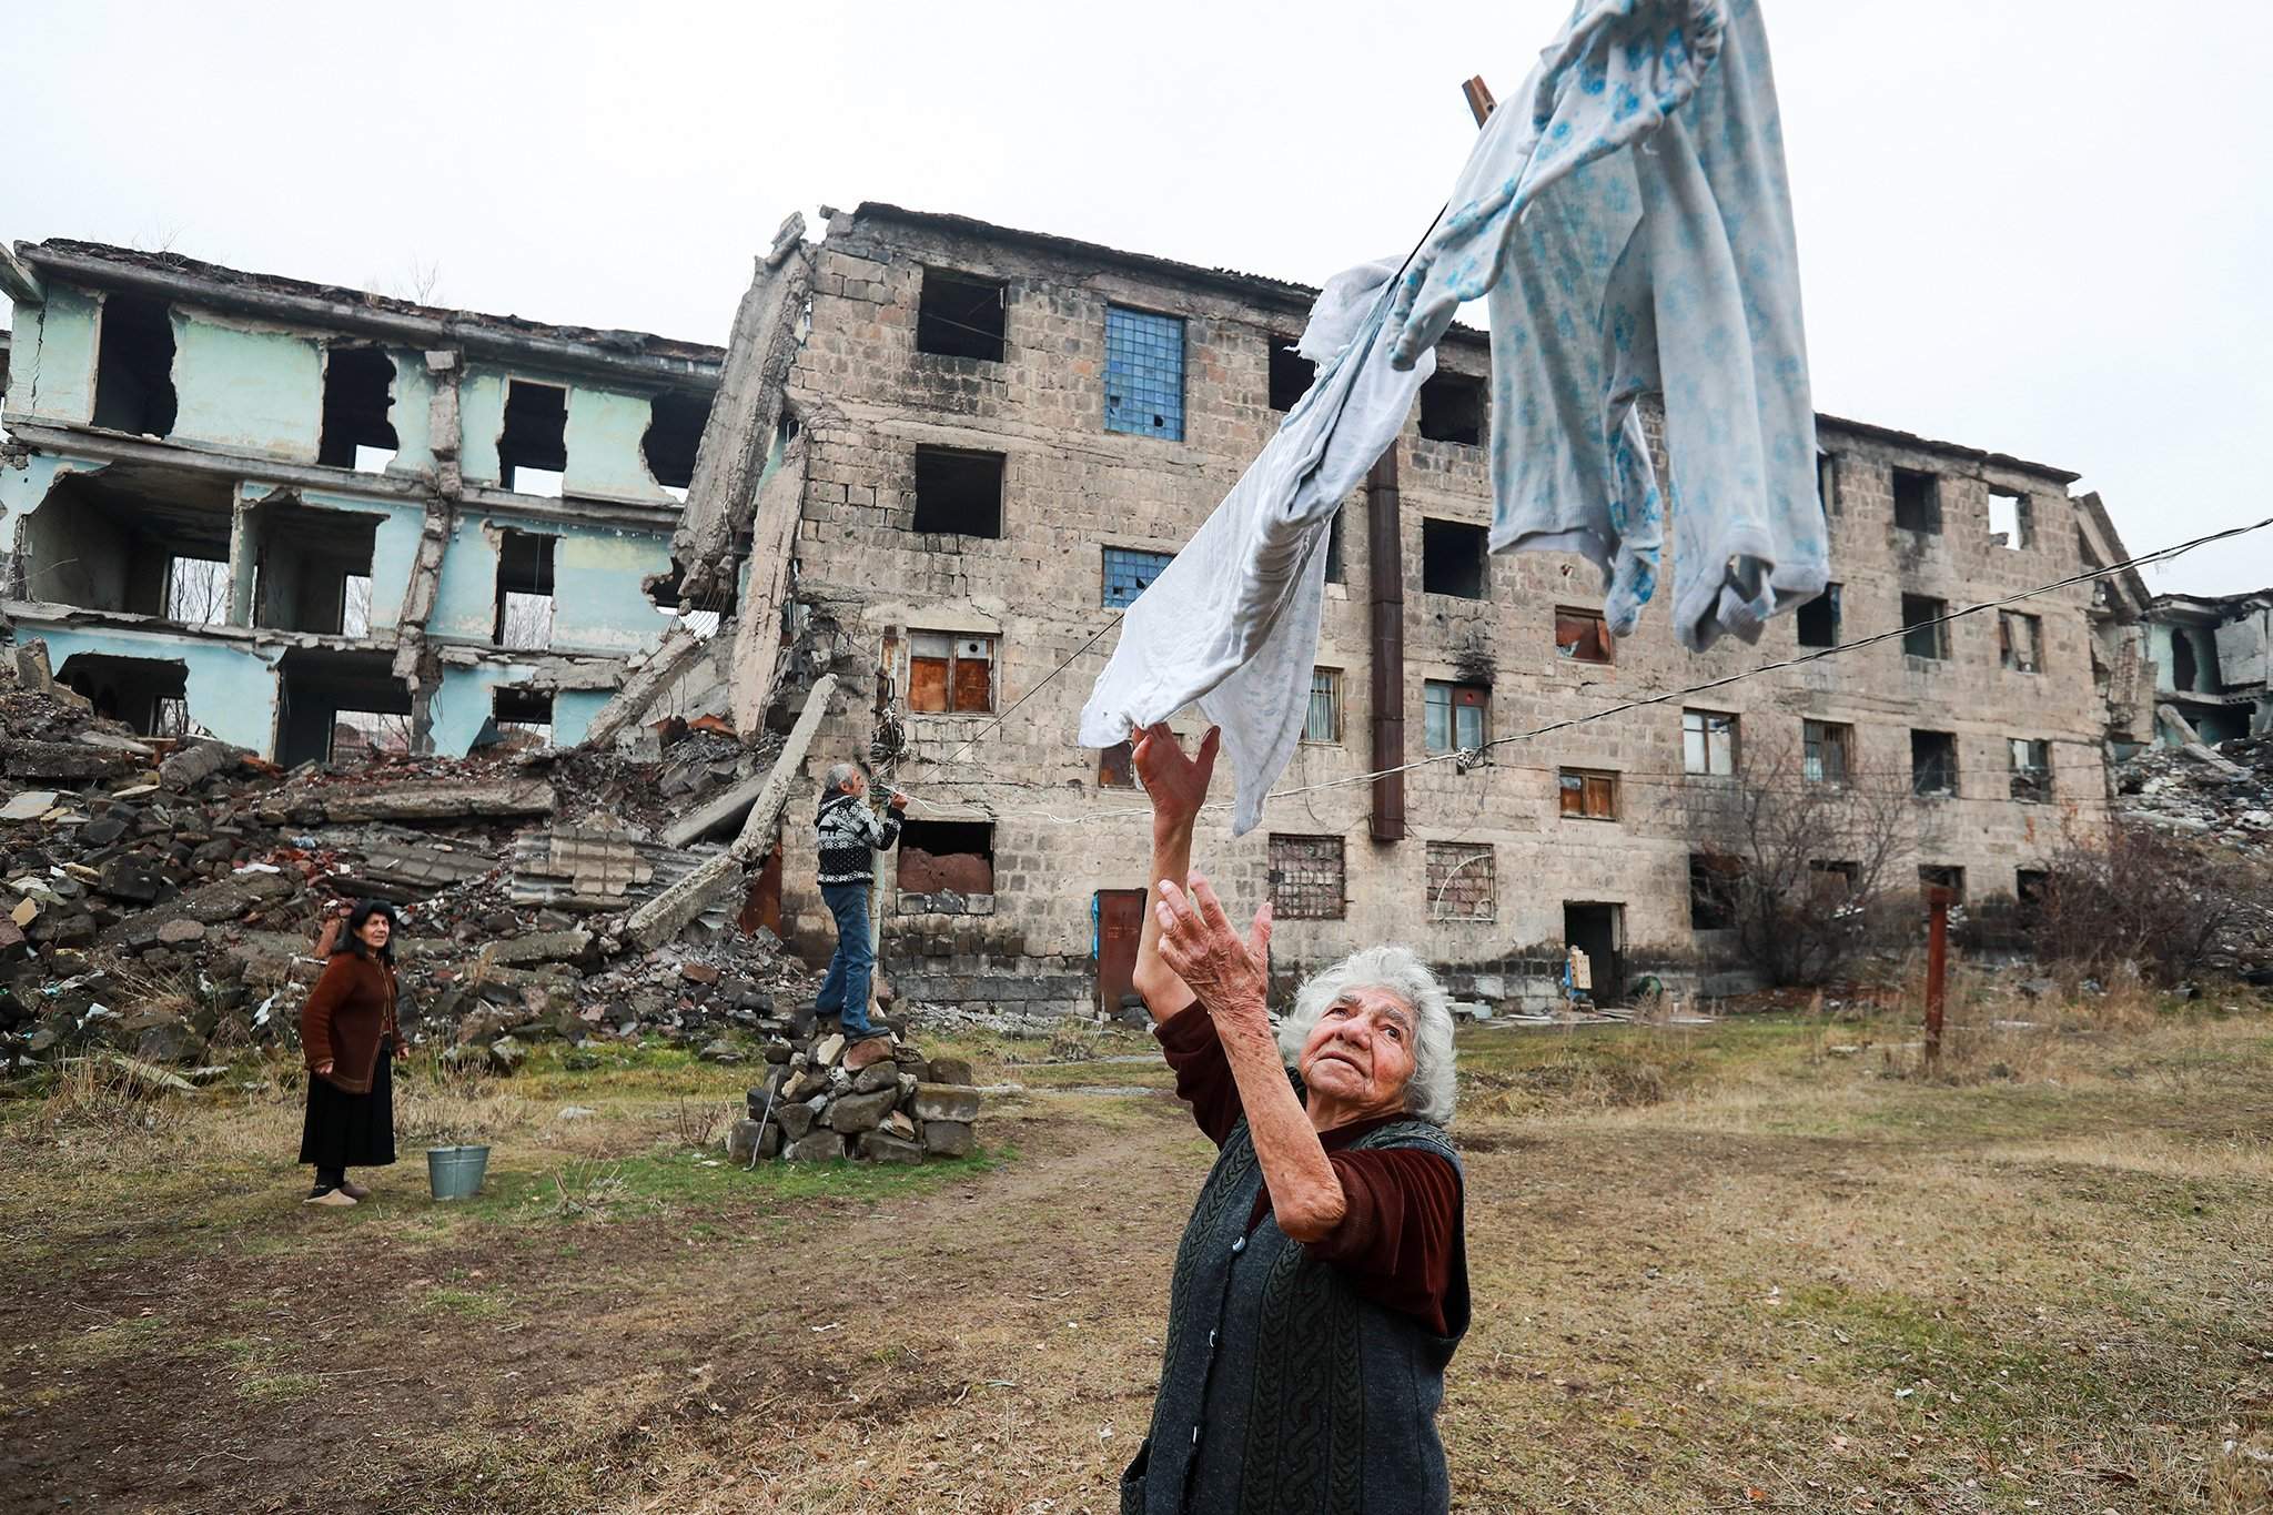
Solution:
{"label": "white-haired elderly woman reaching up toward the hanging laundry", "polygon": [[1452,1015],[1405,947],[1352,952],[1264,1011],[1271,906],[1248,940],[1191,868],[1216,763],[1136,745],[1152,897],[1136,990],[1216,1165],[1184,1227],[1152,1433],[1123,1515],[1450,1506],[1437,1406],[1468,1329]]}

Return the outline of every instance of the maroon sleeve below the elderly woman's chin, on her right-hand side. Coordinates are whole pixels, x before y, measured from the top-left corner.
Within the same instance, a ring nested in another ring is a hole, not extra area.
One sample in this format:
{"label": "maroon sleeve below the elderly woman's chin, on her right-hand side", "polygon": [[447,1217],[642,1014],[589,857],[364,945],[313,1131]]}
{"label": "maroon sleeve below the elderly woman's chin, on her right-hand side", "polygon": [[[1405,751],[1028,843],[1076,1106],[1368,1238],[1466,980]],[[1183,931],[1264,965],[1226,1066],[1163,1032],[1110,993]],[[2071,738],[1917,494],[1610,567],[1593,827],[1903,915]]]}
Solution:
{"label": "maroon sleeve below the elderly woman's chin, on her right-hand side", "polygon": [[[1221,1056],[1221,1054],[1218,1054]],[[1434,1152],[1327,1152],[1348,1208],[1309,1254],[1350,1274],[1362,1295],[1446,1333],[1443,1297],[1459,1236],[1459,1172]]]}

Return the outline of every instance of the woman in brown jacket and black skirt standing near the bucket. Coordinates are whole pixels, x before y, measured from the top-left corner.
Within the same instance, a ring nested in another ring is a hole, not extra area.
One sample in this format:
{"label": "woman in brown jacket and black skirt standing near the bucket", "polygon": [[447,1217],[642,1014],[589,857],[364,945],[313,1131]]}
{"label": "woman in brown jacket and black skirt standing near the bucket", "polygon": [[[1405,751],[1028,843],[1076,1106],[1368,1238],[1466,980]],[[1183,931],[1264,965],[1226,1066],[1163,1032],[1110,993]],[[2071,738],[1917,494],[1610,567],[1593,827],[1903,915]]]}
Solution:
{"label": "woman in brown jacket and black skirt standing near the bucket", "polygon": [[396,1161],[396,1081],[389,1063],[409,1056],[396,1022],[396,911],[364,899],[332,947],[307,1004],[300,1052],[307,1058],[307,1127],[300,1161],[316,1165],[307,1204],[348,1206],[370,1197],[348,1183],[348,1167]]}

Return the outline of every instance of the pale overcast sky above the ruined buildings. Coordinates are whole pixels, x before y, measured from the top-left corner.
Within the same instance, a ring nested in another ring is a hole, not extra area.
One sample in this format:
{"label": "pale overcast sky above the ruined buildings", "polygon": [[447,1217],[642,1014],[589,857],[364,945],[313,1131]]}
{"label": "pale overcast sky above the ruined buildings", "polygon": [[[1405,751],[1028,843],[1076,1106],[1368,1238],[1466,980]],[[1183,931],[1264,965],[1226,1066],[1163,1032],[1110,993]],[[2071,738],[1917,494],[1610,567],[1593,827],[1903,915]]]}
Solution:
{"label": "pale overcast sky above the ruined buildings", "polygon": [[[2073,468],[2132,552],[2273,513],[2273,7],[1766,2],[1816,404]],[[823,202],[1316,284],[1566,9],[18,0],[0,236],[702,341]],[[2150,584],[2273,584],[2273,529]]]}

